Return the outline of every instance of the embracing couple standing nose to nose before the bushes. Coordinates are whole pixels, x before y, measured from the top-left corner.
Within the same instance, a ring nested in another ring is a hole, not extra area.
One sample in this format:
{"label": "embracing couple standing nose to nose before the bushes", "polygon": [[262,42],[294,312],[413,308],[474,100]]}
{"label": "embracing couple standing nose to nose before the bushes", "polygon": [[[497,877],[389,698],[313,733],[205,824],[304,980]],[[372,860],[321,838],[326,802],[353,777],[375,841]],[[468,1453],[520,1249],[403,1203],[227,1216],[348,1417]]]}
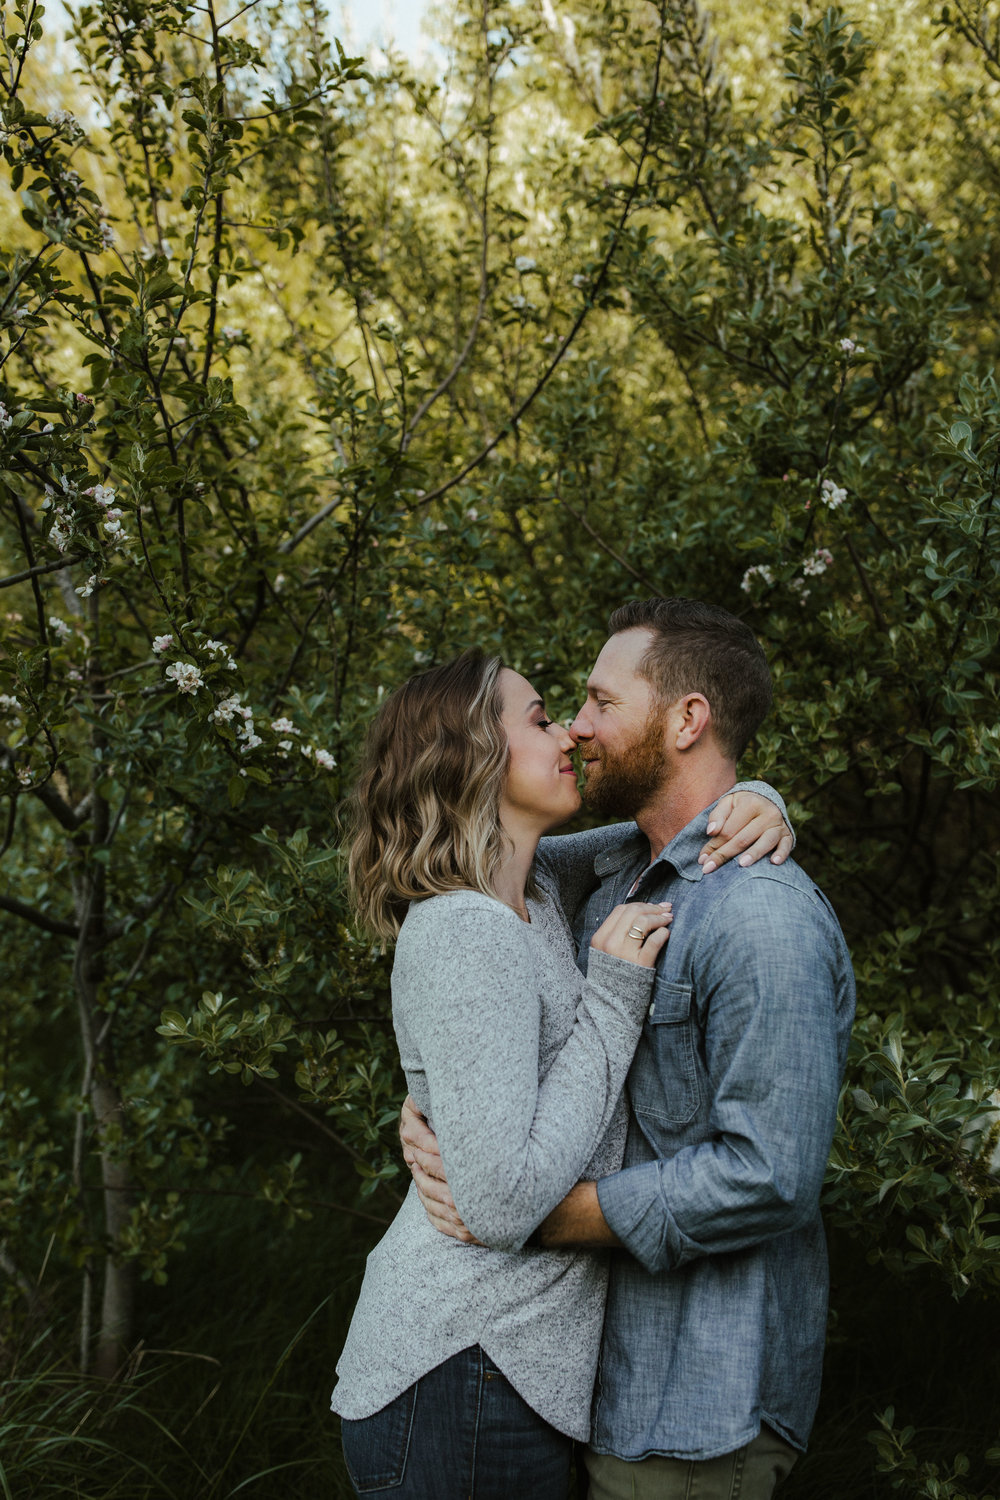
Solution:
{"label": "embracing couple standing nose to nose before the bushes", "polygon": [[[780,796],[736,783],[769,708],[739,620],[651,598],[568,730],[478,652],[379,710],[351,888],[396,942],[414,1184],[337,1366],[358,1494],[565,1500],[577,1440],[591,1500],[765,1500],[805,1448],[855,996]],[[544,837],[574,748],[634,822]]]}

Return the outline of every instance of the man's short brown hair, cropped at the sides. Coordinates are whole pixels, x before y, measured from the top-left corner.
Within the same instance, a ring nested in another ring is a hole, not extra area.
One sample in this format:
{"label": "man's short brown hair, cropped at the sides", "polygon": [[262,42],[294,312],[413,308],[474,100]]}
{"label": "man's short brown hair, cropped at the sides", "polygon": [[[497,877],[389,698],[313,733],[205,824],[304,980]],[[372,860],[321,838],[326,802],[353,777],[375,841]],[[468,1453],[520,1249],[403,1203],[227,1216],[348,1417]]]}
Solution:
{"label": "man's short brown hair, cropped at the sides", "polygon": [[739,760],[771,711],[771,672],[751,630],[718,604],[697,598],[630,598],[607,621],[622,630],[652,630],[639,670],[663,705],[703,693],[723,753]]}

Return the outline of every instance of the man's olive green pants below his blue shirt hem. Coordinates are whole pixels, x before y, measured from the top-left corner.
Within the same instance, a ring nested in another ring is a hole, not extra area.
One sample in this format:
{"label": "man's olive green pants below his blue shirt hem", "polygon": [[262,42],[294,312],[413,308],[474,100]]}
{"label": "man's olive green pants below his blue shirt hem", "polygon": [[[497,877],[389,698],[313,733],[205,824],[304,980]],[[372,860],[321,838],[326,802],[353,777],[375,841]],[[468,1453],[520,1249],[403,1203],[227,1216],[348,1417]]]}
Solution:
{"label": "man's olive green pants below his blue shirt hem", "polygon": [[799,1455],[769,1426],[721,1458],[640,1458],[586,1454],[588,1500],[771,1500]]}

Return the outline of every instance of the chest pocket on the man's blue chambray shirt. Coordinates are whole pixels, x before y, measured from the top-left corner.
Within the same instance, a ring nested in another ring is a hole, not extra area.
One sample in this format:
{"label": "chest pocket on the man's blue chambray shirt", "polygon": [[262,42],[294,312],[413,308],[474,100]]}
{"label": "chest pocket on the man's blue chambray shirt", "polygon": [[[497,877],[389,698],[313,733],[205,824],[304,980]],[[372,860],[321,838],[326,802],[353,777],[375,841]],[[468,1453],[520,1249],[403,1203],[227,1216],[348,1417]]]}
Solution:
{"label": "chest pocket on the man's blue chambray shirt", "polygon": [[628,1080],[636,1116],[685,1125],[702,1101],[691,986],[660,981]]}

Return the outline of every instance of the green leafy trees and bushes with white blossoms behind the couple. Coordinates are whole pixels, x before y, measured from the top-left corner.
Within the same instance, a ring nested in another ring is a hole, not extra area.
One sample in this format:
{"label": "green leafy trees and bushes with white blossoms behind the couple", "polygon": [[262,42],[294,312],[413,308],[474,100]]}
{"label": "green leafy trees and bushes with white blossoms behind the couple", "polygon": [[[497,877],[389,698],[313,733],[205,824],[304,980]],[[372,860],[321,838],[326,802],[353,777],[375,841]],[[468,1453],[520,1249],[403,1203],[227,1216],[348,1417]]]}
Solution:
{"label": "green leafy trees and bushes with white blossoms behind the couple", "polygon": [[[472,640],[568,712],[630,592],[774,664],[747,770],[859,976],[835,1246],[994,1304],[996,24],[558,10],[459,8],[438,76],[312,0],[94,0],[70,80],[3,6],[0,1263],[100,1374],[204,1197],[391,1212],[360,735]],[[988,1434],[879,1422],[879,1492],[985,1492]]]}

